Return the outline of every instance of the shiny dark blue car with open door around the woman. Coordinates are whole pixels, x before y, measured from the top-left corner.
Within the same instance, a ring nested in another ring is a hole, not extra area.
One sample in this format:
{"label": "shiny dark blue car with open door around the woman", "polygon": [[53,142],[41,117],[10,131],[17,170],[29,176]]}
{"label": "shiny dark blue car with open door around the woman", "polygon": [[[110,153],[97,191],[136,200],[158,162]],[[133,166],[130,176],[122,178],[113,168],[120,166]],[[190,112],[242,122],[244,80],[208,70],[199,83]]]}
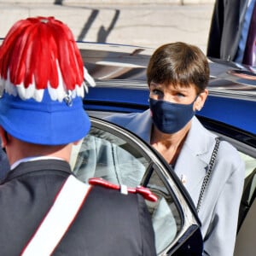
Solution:
{"label": "shiny dark blue car with open door around the woman", "polygon": [[[90,135],[73,150],[73,172],[84,181],[96,176],[113,183],[125,180],[131,186],[147,186],[160,199],[160,203],[148,202],[156,223],[158,254],[201,255],[200,220],[170,166],[136,135],[102,120],[111,113],[142,112],[148,108],[145,71],[153,49],[85,43],[79,43],[79,48],[85,67],[96,79],[96,87],[90,87],[84,98],[92,128]],[[255,255],[256,73],[253,67],[233,62],[209,62],[210,93],[197,117],[207,129],[232,143],[246,162],[235,255]],[[104,145],[100,152],[96,150],[97,143]],[[114,155],[117,148],[125,157],[113,157],[114,161],[107,163],[104,154]],[[155,213],[160,207],[168,208],[164,216]]]}

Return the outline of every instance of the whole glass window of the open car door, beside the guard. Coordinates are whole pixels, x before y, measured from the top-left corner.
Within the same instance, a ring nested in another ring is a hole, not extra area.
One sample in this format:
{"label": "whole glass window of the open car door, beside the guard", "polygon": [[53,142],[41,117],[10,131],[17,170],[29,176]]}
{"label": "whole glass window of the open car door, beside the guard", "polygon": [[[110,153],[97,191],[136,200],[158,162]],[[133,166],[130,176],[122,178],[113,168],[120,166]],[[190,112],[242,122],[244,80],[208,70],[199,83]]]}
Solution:
{"label": "whole glass window of the open car door, beside the guard", "polygon": [[102,177],[111,183],[137,187],[147,177],[147,187],[159,198],[157,202],[146,203],[152,216],[156,249],[160,253],[181,230],[181,217],[157,167],[141,151],[108,131],[92,127],[90,134],[73,148],[71,165],[84,182],[90,177]]}

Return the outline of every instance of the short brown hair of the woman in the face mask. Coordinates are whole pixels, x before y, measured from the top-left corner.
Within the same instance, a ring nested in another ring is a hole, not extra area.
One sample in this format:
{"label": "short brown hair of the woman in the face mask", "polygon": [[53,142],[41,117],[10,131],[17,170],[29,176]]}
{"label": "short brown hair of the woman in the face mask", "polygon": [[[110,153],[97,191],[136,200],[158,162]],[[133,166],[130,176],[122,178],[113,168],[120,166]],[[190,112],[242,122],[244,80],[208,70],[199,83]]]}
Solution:
{"label": "short brown hair of the woman in the face mask", "polygon": [[209,73],[207,56],[195,45],[182,42],[164,44],[149,60],[148,86],[151,82],[185,87],[195,84],[200,93],[207,87]]}

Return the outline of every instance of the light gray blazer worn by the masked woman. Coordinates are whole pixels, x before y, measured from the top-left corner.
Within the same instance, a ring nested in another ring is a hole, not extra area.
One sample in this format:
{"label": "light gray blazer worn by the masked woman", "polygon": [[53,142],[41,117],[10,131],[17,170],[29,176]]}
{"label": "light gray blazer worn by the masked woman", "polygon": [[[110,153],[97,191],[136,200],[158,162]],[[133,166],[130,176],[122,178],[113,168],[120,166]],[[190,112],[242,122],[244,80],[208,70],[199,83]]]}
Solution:
{"label": "light gray blazer worn by the masked woman", "polygon": [[[143,113],[114,114],[106,119],[124,126],[150,143],[152,120],[149,110]],[[194,117],[174,167],[178,177],[186,177],[185,187],[195,206],[211,159],[215,137]],[[233,255],[244,176],[244,162],[236,148],[222,141],[199,212],[205,255]]]}

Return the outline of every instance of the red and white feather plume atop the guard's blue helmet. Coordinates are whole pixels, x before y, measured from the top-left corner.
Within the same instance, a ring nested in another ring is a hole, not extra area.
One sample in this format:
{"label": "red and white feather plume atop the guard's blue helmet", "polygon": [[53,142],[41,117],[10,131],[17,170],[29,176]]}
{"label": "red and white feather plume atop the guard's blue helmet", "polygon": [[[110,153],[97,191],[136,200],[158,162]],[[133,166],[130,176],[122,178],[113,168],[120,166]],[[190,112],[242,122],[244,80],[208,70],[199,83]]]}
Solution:
{"label": "red and white feather plume atop the guard's blue helmet", "polygon": [[22,100],[41,102],[48,90],[52,100],[62,102],[67,96],[84,97],[85,81],[95,85],[72,32],[54,17],[17,21],[0,52],[1,95],[5,91]]}

